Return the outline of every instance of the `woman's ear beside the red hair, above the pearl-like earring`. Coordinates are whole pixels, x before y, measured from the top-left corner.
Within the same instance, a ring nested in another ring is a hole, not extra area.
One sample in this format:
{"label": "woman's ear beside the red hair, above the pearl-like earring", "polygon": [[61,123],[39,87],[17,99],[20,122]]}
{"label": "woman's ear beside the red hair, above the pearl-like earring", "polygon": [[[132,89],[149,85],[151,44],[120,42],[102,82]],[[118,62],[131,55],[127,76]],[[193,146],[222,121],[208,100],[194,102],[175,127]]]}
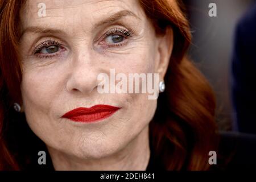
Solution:
{"label": "woman's ear beside the red hair, above the pearl-like earring", "polygon": [[171,27],[168,27],[166,34],[158,37],[158,57],[156,60],[155,73],[159,73],[159,78],[163,80],[166,75],[168,64],[174,47],[174,33]]}

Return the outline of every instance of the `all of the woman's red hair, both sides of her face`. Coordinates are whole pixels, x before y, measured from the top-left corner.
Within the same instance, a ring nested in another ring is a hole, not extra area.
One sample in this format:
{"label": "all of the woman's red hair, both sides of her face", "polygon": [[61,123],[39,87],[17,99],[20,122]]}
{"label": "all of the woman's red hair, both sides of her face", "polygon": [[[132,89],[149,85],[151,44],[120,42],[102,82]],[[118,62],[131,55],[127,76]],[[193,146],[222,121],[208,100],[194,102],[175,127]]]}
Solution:
{"label": "all of the woman's red hair, both sides of her face", "polygon": [[[139,2],[157,34],[164,34],[167,27],[174,31],[174,49],[164,77],[166,91],[159,94],[158,107],[150,122],[150,140],[155,158],[168,170],[208,169],[208,153],[217,147],[214,122],[216,103],[207,80],[187,59],[191,34],[189,23],[181,10],[183,6],[178,1],[170,0]],[[21,102],[22,67],[17,28],[23,3],[22,0],[0,2],[0,170],[26,169],[21,160],[24,152],[14,146],[19,143],[25,146],[25,141],[17,142],[20,134],[16,138],[10,137],[13,134],[11,128],[15,128],[16,123],[14,126],[9,123],[23,119],[23,127],[32,133],[25,125],[24,115],[17,117],[11,109],[14,101]],[[27,154],[26,162],[31,158]]]}

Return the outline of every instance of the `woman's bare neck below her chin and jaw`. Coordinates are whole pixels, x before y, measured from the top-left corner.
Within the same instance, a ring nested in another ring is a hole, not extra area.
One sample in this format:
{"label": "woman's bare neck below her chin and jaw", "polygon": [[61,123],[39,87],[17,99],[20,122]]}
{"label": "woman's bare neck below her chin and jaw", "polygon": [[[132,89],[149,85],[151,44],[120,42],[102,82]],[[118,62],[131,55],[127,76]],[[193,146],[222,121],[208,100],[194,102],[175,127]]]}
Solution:
{"label": "woman's bare neck below her chin and jaw", "polygon": [[100,159],[76,159],[47,146],[55,170],[145,170],[150,159],[149,127],[116,154]]}

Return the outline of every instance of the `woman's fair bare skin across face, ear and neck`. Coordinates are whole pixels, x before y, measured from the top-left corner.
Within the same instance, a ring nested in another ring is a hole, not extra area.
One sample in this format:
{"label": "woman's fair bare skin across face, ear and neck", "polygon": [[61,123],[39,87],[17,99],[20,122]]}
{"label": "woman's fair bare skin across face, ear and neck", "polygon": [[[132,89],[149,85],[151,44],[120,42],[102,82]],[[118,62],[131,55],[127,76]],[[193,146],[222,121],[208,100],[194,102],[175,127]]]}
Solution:
{"label": "woman's fair bare skin across face, ear and neck", "polygon": [[[40,2],[29,0],[20,11],[20,87],[28,125],[46,143],[54,168],[146,169],[150,158],[148,124],[157,100],[139,93],[100,94],[97,76],[110,75],[114,68],[116,74],[159,73],[159,80],[163,80],[173,46],[172,30],[156,35],[135,0],[45,0],[45,17],[38,16]],[[102,22],[121,11],[121,17]],[[121,46],[109,47],[113,35],[105,38],[105,34],[115,28],[131,29],[132,36],[118,42]],[[59,47],[53,46],[59,49],[51,54],[43,48],[39,56],[34,48],[47,40],[59,42]],[[97,104],[121,109],[101,122],[77,123],[61,118],[77,107]]]}

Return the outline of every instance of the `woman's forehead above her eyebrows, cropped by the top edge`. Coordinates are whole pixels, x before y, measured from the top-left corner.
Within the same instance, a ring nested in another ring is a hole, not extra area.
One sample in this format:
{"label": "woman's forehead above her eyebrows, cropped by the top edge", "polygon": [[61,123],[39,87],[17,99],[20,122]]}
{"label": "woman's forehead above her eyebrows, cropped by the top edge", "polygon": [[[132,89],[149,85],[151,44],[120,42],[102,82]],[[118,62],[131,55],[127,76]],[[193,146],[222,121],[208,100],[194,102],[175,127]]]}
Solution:
{"label": "woman's forehead above her eyebrows, cropped by the top edge", "polygon": [[[39,16],[44,10],[45,16]],[[138,17],[144,15],[138,0],[28,0],[20,11],[20,17],[22,28],[52,21],[64,26],[67,21],[96,22],[121,10],[129,10]]]}

